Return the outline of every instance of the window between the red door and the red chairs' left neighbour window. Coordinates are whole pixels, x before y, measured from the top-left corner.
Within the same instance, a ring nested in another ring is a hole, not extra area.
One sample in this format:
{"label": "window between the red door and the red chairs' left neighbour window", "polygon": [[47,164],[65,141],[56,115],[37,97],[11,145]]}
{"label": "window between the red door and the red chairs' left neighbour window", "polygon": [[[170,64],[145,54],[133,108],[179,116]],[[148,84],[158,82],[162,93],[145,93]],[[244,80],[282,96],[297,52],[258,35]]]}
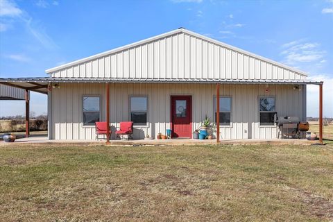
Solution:
{"label": "window between the red door and the red chairs' left neighbour window", "polygon": [[147,96],[130,97],[130,121],[133,121],[134,125],[146,126]]}

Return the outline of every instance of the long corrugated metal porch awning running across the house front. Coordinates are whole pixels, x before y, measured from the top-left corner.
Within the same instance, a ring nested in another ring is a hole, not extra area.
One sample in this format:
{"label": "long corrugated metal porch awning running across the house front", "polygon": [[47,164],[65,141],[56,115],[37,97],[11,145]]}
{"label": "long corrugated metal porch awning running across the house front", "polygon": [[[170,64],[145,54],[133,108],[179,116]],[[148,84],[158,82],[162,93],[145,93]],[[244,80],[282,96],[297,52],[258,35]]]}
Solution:
{"label": "long corrugated metal porch awning running across the house front", "polygon": [[315,80],[235,80],[235,79],[173,79],[173,78],[0,78],[0,83],[34,92],[47,94],[49,83],[228,83],[228,84],[297,84],[322,85],[322,81]]}

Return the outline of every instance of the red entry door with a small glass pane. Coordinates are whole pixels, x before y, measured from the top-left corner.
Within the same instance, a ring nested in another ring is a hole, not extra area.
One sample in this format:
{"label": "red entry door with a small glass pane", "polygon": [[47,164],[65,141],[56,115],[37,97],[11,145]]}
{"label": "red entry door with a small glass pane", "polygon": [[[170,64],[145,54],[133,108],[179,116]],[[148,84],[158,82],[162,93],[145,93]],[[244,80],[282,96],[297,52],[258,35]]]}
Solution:
{"label": "red entry door with a small glass pane", "polygon": [[192,137],[192,96],[171,96],[172,137]]}

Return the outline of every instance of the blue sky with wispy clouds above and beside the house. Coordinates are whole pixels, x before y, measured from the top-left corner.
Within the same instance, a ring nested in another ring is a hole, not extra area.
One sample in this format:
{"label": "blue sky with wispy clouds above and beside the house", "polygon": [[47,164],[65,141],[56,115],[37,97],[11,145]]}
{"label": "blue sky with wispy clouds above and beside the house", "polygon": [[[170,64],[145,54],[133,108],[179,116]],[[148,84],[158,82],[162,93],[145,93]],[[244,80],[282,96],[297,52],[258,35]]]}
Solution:
{"label": "blue sky with wispy clouds above and beside the house", "polygon": [[[333,0],[0,0],[0,76],[46,76],[181,26],[324,80],[324,116],[333,117]],[[308,87],[308,116],[318,116],[317,89]],[[46,96],[33,93],[31,110],[46,113]],[[0,101],[8,114],[24,114],[24,102]]]}

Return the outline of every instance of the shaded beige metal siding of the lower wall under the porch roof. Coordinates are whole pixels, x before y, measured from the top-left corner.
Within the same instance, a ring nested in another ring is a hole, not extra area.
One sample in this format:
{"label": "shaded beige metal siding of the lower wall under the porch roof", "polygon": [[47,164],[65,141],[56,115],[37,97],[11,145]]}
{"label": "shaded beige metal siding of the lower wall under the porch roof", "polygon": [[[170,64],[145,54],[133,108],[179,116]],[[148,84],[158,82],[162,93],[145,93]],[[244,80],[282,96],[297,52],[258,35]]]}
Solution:
{"label": "shaded beige metal siding of the lower wall under the porch roof", "polygon": [[[221,85],[221,96],[232,96],[232,126],[221,127],[222,139],[271,139],[277,137],[277,128],[259,126],[259,96],[275,96],[276,111],[279,116],[297,116],[302,119],[302,91],[294,90],[293,85]],[[53,139],[94,139],[94,127],[83,126],[82,96],[101,96],[101,120],[105,121],[105,84],[70,83],[61,84],[60,89],[52,90],[52,134]],[[148,133],[166,133],[170,127],[170,96],[192,96],[193,129],[200,126],[205,115],[213,117],[214,84],[110,84],[110,122],[129,120],[130,95],[148,96],[148,128],[135,128],[135,138],[144,138]],[[114,127],[112,127],[114,131]],[[114,138],[114,135],[112,135]]]}

